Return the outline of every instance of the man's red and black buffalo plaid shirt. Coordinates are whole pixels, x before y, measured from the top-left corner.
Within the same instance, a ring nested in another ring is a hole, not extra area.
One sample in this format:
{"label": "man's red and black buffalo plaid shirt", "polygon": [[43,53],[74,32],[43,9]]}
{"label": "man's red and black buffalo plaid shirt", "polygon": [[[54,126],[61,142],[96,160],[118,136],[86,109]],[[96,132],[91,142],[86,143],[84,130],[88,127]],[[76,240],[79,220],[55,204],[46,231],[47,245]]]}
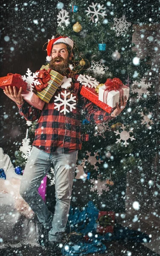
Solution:
{"label": "man's red and black buffalo plaid shirt", "polygon": [[82,85],[77,81],[78,76],[78,74],[73,76],[72,86],[68,89],[73,93],[73,96],[76,96],[77,102],[76,109],[70,113],[66,112],[64,115],[64,112],[60,112],[64,106],[61,106],[60,111],[54,109],[55,95],[58,96],[58,93],[64,92],[61,87],[58,88],[50,102],[44,105],[42,111],[33,108],[27,102],[24,102],[23,105],[17,104],[20,115],[24,116],[26,120],[35,121],[38,119],[33,146],[47,153],[52,153],[58,148],[63,149],[64,153],[81,149],[82,108],[87,113],[86,119],[90,122],[99,123],[113,119],[108,113],[80,94]]}

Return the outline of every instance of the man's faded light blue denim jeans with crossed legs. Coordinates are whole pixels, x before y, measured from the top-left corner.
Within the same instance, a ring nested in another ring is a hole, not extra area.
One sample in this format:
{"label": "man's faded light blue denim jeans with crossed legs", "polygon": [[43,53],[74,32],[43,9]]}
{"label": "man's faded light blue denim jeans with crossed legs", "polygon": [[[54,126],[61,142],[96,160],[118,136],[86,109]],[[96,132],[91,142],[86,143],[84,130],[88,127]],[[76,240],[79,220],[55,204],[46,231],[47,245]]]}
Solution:
{"label": "man's faded light blue denim jeans with crossed legs", "polygon": [[[78,151],[64,154],[61,151],[46,153],[33,146],[28,157],[20,185],[20,195],[29,204],[38,220],[49,231],[49,240],[56,240],[56,233],[64,232],[70,208],[75,165]],[[38,193],[41,180],[51,167],[55,172],[55,212],[49,211]]]}

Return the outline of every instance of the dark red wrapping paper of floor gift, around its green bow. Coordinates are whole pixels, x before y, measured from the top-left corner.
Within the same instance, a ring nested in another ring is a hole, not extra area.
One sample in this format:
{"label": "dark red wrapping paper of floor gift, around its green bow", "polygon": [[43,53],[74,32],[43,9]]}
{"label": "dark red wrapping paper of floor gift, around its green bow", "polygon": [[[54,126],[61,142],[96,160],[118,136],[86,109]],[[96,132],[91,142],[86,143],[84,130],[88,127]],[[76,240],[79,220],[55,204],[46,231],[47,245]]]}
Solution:
{"label": "dark red wrapping paper of floor gift, around its green bow", "polygon": [[[114,222],[115,222],[115,212],[99,212],[99,215],[98,215],[98,220],[100,219],[100,217],[102,216],[109,216],[111,217],[112,219],[112,222],[110,225],[108,225],[107,227],[103,227],[102,225],[98,225],[97,228],[96,228],[96,232],[97,233],[113,233],[113,230],[114,230]],[[105,220],[105,218],[104,218]]]}

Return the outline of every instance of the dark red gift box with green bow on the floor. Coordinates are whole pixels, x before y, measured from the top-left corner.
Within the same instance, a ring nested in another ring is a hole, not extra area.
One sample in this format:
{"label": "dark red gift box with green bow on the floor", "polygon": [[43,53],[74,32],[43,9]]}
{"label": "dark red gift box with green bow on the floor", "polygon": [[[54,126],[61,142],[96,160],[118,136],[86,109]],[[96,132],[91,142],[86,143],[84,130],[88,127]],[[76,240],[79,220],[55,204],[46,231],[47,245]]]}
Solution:
{"label": "dark red gift box with green bow on the floor", "polygon": [[99,212],[97,220],[97,233],[113,233],[115,222],[114,212]]}

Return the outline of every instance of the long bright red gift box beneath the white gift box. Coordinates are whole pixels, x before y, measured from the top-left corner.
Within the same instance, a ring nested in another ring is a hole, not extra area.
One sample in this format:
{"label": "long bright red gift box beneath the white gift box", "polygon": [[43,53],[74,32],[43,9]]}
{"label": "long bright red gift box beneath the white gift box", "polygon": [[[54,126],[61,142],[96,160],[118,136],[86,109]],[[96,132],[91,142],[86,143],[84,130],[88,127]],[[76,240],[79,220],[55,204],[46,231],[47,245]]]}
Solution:
{"label": "long bright red gift box beneath the white gift box", "polygon": [[80,94],[83,95],[85,98],[89,99],[99,108],[102,108],[107,113],[113,112],[114,108],[111,108],[110,106],[106,105],[104,102],[99,100],[99,96],[98,93],[96,93],[95,88],[84,87],[83,85],[81,87]]}

